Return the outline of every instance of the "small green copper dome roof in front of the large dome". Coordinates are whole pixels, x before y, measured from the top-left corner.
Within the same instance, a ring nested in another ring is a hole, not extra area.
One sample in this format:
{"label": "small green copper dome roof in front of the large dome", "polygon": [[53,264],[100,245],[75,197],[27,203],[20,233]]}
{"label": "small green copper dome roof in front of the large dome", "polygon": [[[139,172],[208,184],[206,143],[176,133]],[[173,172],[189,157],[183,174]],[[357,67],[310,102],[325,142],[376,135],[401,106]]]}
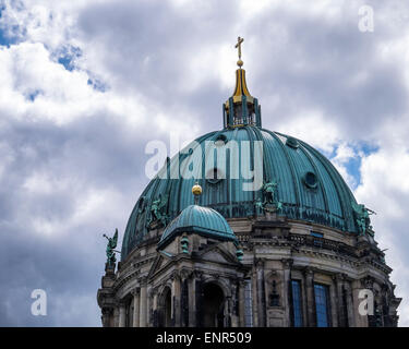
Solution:
{"label": "small green copper dome roof in front of the large dome", "polygon": [[158,248],[165,248],[178,233],[199,234],[226,241],[238,241],[226,219],[215,209],[190,205],[184,208],[165,229]]}

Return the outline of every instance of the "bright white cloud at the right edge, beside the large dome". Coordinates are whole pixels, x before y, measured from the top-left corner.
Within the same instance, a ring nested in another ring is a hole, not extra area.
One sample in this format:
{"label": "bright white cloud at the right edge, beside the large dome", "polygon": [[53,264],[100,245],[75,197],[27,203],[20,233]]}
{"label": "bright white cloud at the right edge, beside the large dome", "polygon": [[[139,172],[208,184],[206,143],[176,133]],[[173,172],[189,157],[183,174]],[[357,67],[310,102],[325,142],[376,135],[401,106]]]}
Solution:
{"label": "bright white cloud at the right edge, beside the large dome", "polygon": [[390,145],[362,159],[361,181],[354,194],[376,212],[372,217],[381,249],[388,249],[386,262],[394,268],[400,326],[409,326],[409,273],[407,260],[407,207],[409,207],[409,147]]}

